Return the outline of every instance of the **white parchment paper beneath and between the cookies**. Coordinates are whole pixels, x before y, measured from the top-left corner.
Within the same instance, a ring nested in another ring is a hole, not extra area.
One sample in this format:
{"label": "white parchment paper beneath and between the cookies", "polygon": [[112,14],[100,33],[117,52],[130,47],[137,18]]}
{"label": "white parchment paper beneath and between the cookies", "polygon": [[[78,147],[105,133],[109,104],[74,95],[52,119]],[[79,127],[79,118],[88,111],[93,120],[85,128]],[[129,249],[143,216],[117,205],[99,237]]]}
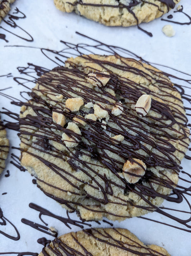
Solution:
{"label": "white parchment paper beneath and between the cookies", "polygon": [[[183,5],[183,10],[191,15],[191,5],[189,1],[181,0],[180,5]],[[159,18],[148,24],[141,25],[145,30],[152,32],[153,37],[149,37],[138,30],[137,27],[105,27],[73,13],[62,13],[55,8],[53,0],[16,0],[12,5],[10,13],[13,13],[15,8],[23,12],[26,18],[20,18],[15,21],[20,28],[13,28],[4,21],[0,24],[0,33],[5,34],[6,40],[9,41],[5,42],[4,40],[0,40],[0,90],[6,89],[0,92],[13,96],[16,99],[21,99],[20,91],[27,91],[25,87],[19,85],[18,82],[13,79],[14,77],[22,77],[17,69],[18,67],[30,66],[28,63],[33,63],[48,69],[58,66],[57,63],[59,63],[59,60],[55,60],[55,62],[58,61],[55,63],[51,59],[48,59],[45,54],[43,54],[42,48],[56,51],[62,50],[64,45],[60,40],[70,42],[74,45],[80,43],[91,44],[91,40],[76,34],[76,31],[102,41],[105,44],[125,48],[151,63],[158,63],[185,72],[185,74],[181,73],[183,78],[187,77],[186,73],[191,73],[191,25],[181,26],[179,24],[172,24],[176,35],[169,38],[162,33],[162,27],[169,23],[161,21]],[[164,18],[167,18],[169,14],[172,14],[174,16],[173,19],[176,21],[189,22],[189,19],[185,15],[182,13],[174,14],[173,10],[165,14]],[[5,18],[5,20],[7,20],[7,18]],[[21,28],[33,37],[33,42],[20,38],[25,37],[25,39],[30,40],[30,36]],[[16,33],[20,37],[12,33]],[[70,51],[68,57],[70,57],[71,54],[72,52]],[[166,67],[158,66],[158,68],[169,72],[169,69]],[[178,74],[177,71],[172,71],[171,69],[171,73],[172,72],[174,75]],[[8,73],[11,73],[11,75],[2,77]],[[32,73],[31,81],[35,79],[33,75],[36,77],[35,74]],[[190,79],[190,77],[188,79]],[[19,81],[21,82],[21,80]],[[34,86],[32,82],[28,82],[27,80],[23,82],[24,85],[30,88]],[[182,81],[182,83],[184,82]],[[190,93],[189,89],[188,93]],[[5,109],[3,108],[6,108],[19,113],[19,107],[15,107],[15,105],[11,104],[11,100],[12,99],[0,95],[0,110],[4,112]],[[1,114],[1,120],[11,119],[5,114]],[[19,147],[17,132],[8,130],[7,133],[10,139],[10,146]],[[46,237],[52,240],[53,237],[22,223],[21,219],[25,218],[43,224],[38,217],[39,212],[30,208],[29,203],[33,202],[56,215],[64,217],[66,217],[66,210],[56,201],[45,196],[43,192],[32,183],[33,178],[28,172],[22,172],[11,164],[14,157],[13,154],[19,156],[17,149],[10,148],[6,169],[0,176],[0,207],[4,216],[18,229],[20,239],[14,241],[0,234],[0,252],[30,251],[39,253],[42,250],[42,244],[37,243],[37,239]],[[182,166],[187,172],[191,169],[191,164],[188,161],[183,160]],[[5,177],[7,173],[6,170],[10,171],[10,176],[7,178]],[[7,194],[2,195],[5,192]],[[171,203],[164,202],[163,206],[171,206]],[[181,210],[188,211],[186,204],[181,204]],[[183,216],[183,214],[180,213],[180,217],[181,215],[186,219],[190,217],[189,214]],[[78,220],[75,213],[71,214],[70,217]],[[173,226],[179,226],[177,222],[166,220],[164,216],[157,213],[148,214],[145,217],[152,218],[159,222],[168,221],[168,223]],[[77,231],[81,229],[74,225],[71,225],[70,229],[52,217],[44,216],[43,220],[48,224],[48,227],[55,227],[59,235],[70,232],[71,230]],[[140,218],[127,219],[121,223],[116,221],[113,224],[115,227],[129,229],[145,244],[154,243],[163,246],[173,256],[191,255],[191,233],[189,232]],[[95,222],[92,222],[91,225],[93,227],[110,226],[102,222],[101,225]],[[0,225],[0,230],[10,235],[15,235],[15,230],[8,223],[5,226]]]}

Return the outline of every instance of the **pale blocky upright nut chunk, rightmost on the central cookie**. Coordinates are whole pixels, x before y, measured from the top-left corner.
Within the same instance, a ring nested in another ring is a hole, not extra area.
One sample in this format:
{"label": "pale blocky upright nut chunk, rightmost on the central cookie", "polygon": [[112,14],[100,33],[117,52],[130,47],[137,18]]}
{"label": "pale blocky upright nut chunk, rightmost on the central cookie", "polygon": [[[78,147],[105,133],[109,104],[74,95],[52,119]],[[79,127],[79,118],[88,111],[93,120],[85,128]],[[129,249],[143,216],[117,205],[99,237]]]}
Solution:
{"label": "pale blocky upright nut chunk, rightmost on the central cookie", "polygon": [[141,116],[146,116],[148,114],[149,109],[151,108],[151,96],[147,94],[143,94],[137,100],[135,105],[135,110]]}

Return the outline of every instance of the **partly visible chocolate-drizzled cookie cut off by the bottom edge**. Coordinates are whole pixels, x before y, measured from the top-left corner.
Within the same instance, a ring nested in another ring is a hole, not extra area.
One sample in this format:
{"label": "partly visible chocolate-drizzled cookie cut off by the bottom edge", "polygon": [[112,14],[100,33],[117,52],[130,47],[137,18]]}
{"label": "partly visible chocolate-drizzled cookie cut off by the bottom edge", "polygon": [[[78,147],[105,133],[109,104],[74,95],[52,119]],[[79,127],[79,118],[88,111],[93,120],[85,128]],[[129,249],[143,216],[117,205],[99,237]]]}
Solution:
{"label": "partly visible chocolate-drizzled cookie cut off by the bottom edge", "polygon": [[92,228],[71,232],[55,238],[39,256],[170,256],[162,247],[145,245],[133,233],[122,228]]}

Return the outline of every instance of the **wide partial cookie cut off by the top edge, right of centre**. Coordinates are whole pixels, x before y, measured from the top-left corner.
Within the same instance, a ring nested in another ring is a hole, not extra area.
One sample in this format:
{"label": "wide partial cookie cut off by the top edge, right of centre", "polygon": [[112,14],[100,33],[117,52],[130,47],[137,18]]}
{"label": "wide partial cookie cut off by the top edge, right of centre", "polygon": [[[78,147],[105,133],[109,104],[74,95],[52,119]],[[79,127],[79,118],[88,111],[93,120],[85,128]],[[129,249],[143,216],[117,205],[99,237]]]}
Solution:
{"label": "wide partial cookie cut off by the top edge, right of centre", "polygon": [[75,11],[106,26],[134,26],[161,17],[180,0],[54,0],[56,8]]}

